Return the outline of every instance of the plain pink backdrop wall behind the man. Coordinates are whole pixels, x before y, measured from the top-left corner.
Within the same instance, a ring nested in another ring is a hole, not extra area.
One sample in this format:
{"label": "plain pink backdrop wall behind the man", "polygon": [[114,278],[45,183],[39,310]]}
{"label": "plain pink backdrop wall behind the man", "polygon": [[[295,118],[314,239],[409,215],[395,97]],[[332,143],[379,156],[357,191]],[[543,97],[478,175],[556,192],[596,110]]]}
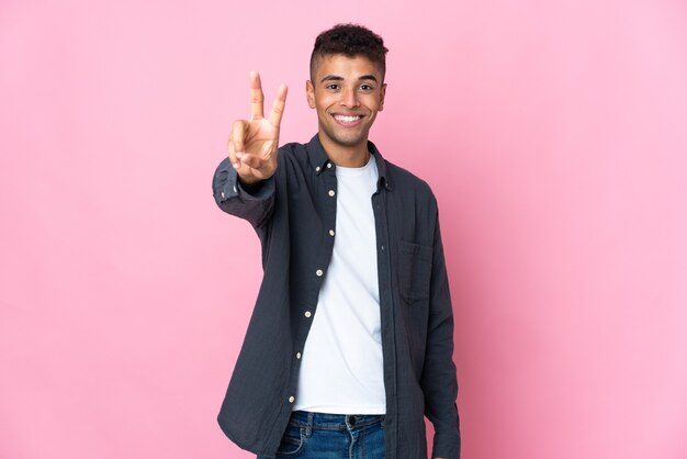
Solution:
{"label": "plain pink backdrop wall behind the man", "polygon": [[372,138],[438,195],[466,459],[687,457],[687,5],[0,3],[0,458],[250,458],[216,425],[260,280],[211,177],[248,71],[384,36]]}

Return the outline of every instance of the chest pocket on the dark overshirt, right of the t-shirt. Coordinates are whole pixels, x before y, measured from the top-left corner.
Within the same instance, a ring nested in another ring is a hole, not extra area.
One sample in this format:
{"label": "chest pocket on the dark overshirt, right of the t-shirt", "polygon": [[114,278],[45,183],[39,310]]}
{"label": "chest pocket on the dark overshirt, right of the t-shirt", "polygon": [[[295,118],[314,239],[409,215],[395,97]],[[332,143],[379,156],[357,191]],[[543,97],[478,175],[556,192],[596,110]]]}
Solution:
{"label": "chest pocket on the dark overshirt, right of the t-shirt", "polygon": [[401,298],[413,303],[429,299],[431,247],[401,240],[398,283]]}

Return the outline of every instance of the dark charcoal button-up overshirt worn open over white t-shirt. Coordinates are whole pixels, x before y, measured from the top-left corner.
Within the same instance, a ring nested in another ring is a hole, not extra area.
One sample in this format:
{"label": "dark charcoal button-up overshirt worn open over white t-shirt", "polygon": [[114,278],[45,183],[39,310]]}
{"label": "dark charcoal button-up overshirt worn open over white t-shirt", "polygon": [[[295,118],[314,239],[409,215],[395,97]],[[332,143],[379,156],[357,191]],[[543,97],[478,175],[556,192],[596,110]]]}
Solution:
{"label": "dark charcoal button-up overshirt worn open over white t-shirt", "polygon": [[[425,459],[424,416],[433,456],[460,457],[453,313],[428,184],[382,158],[371,198],[375,219],[386,457]],[[228,159],[213,179],[219,208],[247,220],[262,247],[262,284],[218,423],[239,447],[273,457],[293,408],[305,339],[327,276],[336,227],[336,165],[318,136],[279,149],[274,176],[243,187]],[[239,265],[238,262],[236,265]],[[237,305],[240,306],[240,305]]]}

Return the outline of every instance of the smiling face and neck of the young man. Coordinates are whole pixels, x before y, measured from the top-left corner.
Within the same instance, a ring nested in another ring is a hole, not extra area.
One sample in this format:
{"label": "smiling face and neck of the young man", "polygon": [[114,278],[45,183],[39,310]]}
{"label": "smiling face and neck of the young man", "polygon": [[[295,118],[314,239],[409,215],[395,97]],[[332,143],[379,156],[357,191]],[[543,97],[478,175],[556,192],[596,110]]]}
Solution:
{"label": "smiling face and neck of the young man", "polygon": [[384,108],[380,69],[364,56],[335,54],[318,58],[313,78],[306,83],[307,103],[317,111],[325,150],[335,163],[360,155],[367,160],[368,134]]}

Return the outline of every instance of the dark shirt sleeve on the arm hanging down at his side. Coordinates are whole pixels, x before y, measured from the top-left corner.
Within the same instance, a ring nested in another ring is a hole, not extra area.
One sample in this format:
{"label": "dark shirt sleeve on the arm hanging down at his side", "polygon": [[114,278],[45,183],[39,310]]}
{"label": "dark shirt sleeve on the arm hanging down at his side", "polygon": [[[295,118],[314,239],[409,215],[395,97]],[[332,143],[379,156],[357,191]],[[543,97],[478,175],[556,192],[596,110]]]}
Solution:
{"label": "dark shirt sleeve on the arm hanging down at his side", "polygon": [[427,348],[420,384],[425,415],[435,426],[432,458],[460,458],[458,380],[453,363],[453,309],[439,217],[435,225]]}

